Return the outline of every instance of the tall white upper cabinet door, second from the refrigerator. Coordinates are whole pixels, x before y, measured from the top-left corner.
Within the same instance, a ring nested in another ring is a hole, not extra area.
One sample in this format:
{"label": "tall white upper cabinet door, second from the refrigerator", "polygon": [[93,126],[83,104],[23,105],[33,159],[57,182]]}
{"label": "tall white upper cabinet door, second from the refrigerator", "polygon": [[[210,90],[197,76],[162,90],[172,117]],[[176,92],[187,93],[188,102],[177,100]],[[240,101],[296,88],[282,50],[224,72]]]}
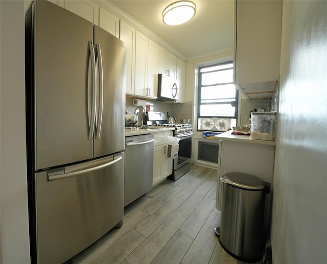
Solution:
{"label": "tall white upper cabinet door, second from the refrigerator", "polygon": [[149,38],[141,32],[136,31],[134,93],[141,96],[149,95],[147,89],[148,43]]}

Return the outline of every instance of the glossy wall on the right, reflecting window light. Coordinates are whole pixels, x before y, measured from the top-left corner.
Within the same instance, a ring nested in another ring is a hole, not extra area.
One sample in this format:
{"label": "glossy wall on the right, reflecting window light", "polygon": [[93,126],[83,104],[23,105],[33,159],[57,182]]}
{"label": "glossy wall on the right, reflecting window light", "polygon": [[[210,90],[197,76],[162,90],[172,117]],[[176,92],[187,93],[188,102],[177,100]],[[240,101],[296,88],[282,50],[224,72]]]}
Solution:
{"label": "glossy wall on the right, reflecting window light", "polygon": [[327,2],[284,1],[273,263],[327,259]]}

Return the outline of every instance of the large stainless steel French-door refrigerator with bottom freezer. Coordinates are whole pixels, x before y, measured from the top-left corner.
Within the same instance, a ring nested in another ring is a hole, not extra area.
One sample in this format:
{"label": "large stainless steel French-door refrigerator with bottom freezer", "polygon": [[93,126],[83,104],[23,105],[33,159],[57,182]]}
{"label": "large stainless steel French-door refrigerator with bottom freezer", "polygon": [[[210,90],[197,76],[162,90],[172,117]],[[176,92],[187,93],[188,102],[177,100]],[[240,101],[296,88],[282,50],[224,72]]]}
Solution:
{"label": "large stainless steel French-door refrigerator with bottom freezer", "polygon": [[62,263],[121,224],[124,43],[48,1],[26,13],[31,262]]}

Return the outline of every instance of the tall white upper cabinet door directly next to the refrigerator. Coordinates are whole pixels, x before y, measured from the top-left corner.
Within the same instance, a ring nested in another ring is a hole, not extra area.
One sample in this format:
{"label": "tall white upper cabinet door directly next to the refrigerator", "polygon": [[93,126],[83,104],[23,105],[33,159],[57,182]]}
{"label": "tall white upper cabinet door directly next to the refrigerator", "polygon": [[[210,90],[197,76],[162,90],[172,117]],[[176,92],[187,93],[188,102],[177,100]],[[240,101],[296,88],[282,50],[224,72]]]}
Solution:
{"label": "tall white upper cabinet door directly next to the refrigerator", "polygon": [[126,93],[134,94],[136,29],[121,19],[120,39],[125,42]]}

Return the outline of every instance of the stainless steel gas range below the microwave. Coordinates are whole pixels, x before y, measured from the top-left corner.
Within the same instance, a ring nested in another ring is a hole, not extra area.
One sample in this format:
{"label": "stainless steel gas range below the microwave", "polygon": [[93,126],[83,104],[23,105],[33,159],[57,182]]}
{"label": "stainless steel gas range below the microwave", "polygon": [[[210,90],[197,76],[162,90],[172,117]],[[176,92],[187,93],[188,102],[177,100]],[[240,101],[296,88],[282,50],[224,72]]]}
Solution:
{"label": "stainless steel gas range below the microwave", "polygon": [[165,112],[147,112],[147,124],[148,126],[174,127],[174,136],[180,139],[178,157],[173,160],[173,174],[168,178],[175,181],[189,172],[192,154],[192,125],[167,123]]}

